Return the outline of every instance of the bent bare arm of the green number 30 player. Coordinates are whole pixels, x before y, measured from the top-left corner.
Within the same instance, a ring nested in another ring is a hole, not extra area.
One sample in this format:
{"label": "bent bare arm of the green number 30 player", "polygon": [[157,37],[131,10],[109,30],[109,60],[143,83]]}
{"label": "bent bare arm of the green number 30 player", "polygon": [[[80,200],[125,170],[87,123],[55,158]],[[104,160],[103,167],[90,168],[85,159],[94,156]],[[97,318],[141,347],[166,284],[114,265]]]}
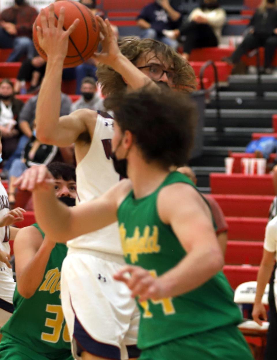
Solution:
{"label": "bent bare arm of the green number 30 player", "polygon": [[23,297],[30,298],[43,280],[54,242],[43,239],[34,226],[20,229],[14,241],[17,289]]}

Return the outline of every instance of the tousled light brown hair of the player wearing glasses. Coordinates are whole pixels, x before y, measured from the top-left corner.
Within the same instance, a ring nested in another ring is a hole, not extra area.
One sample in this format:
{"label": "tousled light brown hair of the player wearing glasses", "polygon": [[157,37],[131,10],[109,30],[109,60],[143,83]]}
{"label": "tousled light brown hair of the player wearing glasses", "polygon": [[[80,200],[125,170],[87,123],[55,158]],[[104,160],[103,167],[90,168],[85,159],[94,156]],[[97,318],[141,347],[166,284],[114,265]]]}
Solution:
{"label": "tousled light brown hair of the player wearing glasses", "polygon": [[[162,62],[173,64],[178,79],[175,84],[178,91],[190,93],[196,90],[197,83],[193,68],[170,46],[157,40],[126,37],[119,43],[119,48],[121,53],[134,65],[142,55],[153,52]],[[127,87],[122,76],[107,65],[99,64],[96,74],[104,95],[121,92]]]}

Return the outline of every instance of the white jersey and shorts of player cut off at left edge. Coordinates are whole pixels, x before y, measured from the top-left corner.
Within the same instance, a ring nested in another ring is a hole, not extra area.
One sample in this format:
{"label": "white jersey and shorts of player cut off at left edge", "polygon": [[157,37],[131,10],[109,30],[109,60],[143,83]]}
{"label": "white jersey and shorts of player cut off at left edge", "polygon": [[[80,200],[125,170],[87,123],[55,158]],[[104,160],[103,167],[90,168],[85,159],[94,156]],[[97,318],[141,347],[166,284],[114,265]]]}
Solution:
{"label": "white jersey and shorts of player cut off at left edge", "polygon": [[[0,182],[0,219],[10,211],[8,194]],[[0,228],[0,250],[10,253],[10,229],[9,226]],[[0,299],[13,303],[15,282],[13,271],[4,262],[0,261]]]}

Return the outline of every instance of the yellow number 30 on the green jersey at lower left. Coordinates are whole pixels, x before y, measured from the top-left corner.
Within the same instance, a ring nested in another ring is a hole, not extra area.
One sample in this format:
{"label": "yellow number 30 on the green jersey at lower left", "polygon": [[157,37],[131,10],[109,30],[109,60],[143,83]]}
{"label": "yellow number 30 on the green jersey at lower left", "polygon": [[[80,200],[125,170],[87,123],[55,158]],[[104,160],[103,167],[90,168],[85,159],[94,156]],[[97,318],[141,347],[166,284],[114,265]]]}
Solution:
{"label": "yellow number 30 on the green jersey at lower left", "polygon": [[[59,341],[62,326],[63,326],[63,311],[61,305],[49,305],[46,306],[46,312],[51,312],[52,314],[56,314],[55,319],[46,318],[45,326],[49,328],[53,328],[52,334],[41,333],[41,340],[56,343]],[[63,341],[69,342],[70,337],[68,333],[67,325],[64,324],[63,328]]]}

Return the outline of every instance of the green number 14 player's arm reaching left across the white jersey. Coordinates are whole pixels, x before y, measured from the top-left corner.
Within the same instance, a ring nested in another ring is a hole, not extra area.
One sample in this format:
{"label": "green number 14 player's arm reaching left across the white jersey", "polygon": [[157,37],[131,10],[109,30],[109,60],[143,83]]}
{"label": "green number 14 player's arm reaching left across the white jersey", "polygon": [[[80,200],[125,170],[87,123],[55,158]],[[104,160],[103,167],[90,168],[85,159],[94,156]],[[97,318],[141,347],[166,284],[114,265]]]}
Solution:
{"label": "green number 14 player's arm reaching left across the white jersey", "polygon": [[119,199],[126,194],[125,182],[120,181],[96,200],[67,207],[55,197],[53,176],[44,165],[26,170],[17,180],[17,185],[21,190],[33,192],[40,228],[50,239],[61,243],[115,222]]}

